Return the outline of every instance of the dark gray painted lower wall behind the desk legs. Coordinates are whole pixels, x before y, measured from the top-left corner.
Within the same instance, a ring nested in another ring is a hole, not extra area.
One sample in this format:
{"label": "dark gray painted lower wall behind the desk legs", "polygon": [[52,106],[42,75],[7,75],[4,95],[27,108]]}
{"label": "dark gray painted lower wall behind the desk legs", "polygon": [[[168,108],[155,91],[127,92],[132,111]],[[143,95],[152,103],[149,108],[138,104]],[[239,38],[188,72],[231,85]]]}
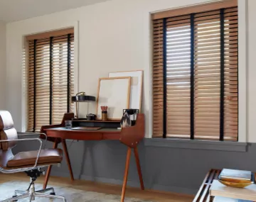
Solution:
{"label": "dark gray painted lower wall behind the desk legs", "polygon": [[[154,141],[154,140],[146,140]],[[119,141],[68,141],[68,151],[75,179],[122,184],[127,147]],[[52,147],[50,143],[47,147]],[[61,148],[61,146],[60,146]],[[36,149],[22,143],[15,152]],[[195,194],[209,169],[256,170],[256,144],[247,145],[246,152],[206,150],[198,148],[156,147],[142,142],[139,157],[146,189]],[[53,167],[52,175],[69,176],[63,160]],[[134,155],[129,167],[129,186],[139,186]]]}

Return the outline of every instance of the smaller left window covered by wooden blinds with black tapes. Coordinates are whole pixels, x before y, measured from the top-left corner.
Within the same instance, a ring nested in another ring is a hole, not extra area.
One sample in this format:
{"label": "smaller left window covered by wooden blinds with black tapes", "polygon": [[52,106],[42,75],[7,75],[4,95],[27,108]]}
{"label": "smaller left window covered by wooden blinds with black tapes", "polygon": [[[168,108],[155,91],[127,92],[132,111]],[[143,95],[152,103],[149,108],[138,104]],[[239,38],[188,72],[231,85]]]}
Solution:
{"label": "smaller left window covered by wooden blinds with black tapes", "polygon": [[[32,39],[31,39],[32,38]],[[60,124],[73,111],[73,29],[28,36],[28,131]]]}

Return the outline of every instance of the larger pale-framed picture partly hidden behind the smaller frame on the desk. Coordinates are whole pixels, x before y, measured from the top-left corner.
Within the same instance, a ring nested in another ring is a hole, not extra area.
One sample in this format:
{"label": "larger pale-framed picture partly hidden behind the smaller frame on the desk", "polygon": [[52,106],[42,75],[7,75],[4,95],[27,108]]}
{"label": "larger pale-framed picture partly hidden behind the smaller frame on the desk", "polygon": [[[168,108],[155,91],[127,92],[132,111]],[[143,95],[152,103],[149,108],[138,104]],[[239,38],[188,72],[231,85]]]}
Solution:
{"label": "larger pale-framed picture partly hidden behind the smaller frame on the desk", "polygon": [[129,108],[142,111],[143,70],[110,72],[109,77],[132,77]]}

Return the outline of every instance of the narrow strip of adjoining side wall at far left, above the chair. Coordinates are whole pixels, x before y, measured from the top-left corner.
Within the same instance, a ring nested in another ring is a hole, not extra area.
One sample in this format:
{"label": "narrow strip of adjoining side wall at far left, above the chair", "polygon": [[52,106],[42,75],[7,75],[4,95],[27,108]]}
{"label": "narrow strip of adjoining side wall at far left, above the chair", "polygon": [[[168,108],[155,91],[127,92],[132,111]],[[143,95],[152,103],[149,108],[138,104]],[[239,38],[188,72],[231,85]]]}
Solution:
{"label": "narrow strip of adjoining side wall at far left, above the chair", "polygon": [[0,109],[5,109],[6,101],[6,24],[0,21]]}

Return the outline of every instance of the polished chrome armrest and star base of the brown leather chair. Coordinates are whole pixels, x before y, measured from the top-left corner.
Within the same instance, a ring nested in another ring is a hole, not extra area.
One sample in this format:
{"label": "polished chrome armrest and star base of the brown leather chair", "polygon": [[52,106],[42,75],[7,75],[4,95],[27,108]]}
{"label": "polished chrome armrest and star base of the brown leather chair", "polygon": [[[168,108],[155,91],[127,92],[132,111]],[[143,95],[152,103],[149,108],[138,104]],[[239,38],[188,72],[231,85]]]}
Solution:
{"label": "polished chrome armrest and star base of the brown leather chair", "polygon": [[[36,157],[36,162],[33,165],[33,167],[18,168],[18,169],[4,169],[3,167],[0,167],[0,172],[2,172],[4,174],[11,174],[11,173],[18,173],[18,172],[27,172],[27,171],[31,171],[33,169],[38,169],[41,172],[42,167],[48,167],[48,166],[52,165],[52,164],[45,164],[45,165],[38,166],[38,159],[40,157],[42,147],[45,147],[45,145],[46,145],[47,135],[45,133],[18,133],[18,137],[26,136],[26,135],[44,135],[46,137],[46,139],[44,141],[44,145],[43,145],[43,141],[40,138],[23,138],[23,139],[16,139],[16,140],[0,140],[0,142],[22,142],[22,141],[34,141],[34,140],[37,140],[38,142],[40,142],[38,154],[37,154],[37,157]],[[19,199],[22,199],[22,198],[29,198],[29,201],[31,202],[31,201],[34,201],[36,197],[59,198],[59,199],[62,199],[64,202],[66,202],[65,197],[46,194],[45,193],[46,191],[52,191],[52,193],[55,193],[53,187],[36,191],[35,186],[34,186],[34,181],[32,181],[32,179],[31,179],[31,184],[28,186],[28,189],[26,191],[16,190],[14,197],[7,198],[4,201],[0,201],[0,202],[18,201]],[[17,194],[21,194],[21,195],[17,195]]]}

